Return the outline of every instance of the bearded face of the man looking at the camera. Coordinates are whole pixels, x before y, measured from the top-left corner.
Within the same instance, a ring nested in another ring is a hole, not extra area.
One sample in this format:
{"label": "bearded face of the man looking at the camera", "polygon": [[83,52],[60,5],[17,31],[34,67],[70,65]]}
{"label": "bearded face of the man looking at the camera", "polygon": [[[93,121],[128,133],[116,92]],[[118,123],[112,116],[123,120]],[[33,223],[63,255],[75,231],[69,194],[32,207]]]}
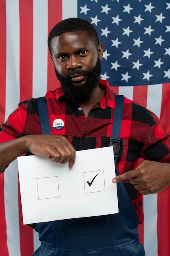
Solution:
{"label": "bearded face of the man looking at the camera", "polygon": [[52,39],[55,73],[68,97],[86,99],[98,85],[103,47],[89,39],[86,31],[64,33]]}

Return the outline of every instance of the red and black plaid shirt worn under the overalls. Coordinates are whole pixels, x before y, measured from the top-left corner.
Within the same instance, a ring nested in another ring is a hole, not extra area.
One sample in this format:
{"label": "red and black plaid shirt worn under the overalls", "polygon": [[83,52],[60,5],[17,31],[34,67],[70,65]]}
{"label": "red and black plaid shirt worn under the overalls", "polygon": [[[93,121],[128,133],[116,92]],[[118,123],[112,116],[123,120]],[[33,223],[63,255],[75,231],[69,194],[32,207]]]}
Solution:
{"label": "red and black plaid shirt worn under the overalls", "polygon": [[[91,108],[86,117],[79,104],[65,97],[62,88],[46,93],[47,109],[52,134],[64,135],[75,150],[106,147],[109,144],[115,94],[107,81],[99,80],[99,87],[105,90],[100,103]],[[61,119],[64,126],[61,130],[53,127],[53,121]],[[18,105],[0,126],[0,142],[24,135],[42,134],[36,99],[29,99]],[[125,98],[121,127],[121,148],[116,166],[119,173],[133,170],[138,158],[159,162],[170,162],[170,135],[164,134],[159,126],[159,119],[152,112],[137,103]],[[129,181],[124,186],[135,206],[139,220],[142,221],[142,195]]]}

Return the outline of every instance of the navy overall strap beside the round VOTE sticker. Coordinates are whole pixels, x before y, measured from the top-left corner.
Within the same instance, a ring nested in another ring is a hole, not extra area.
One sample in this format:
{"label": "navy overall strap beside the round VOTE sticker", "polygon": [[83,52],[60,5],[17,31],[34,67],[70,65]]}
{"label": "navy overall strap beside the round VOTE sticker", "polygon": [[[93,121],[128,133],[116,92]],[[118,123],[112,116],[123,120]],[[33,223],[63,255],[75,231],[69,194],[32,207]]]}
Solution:
{"label": "navy overall strap beside the round VOTE sticker", "polygon": [[46,107],[45,97],[37,98],[37,106],[38,106],[38,113],[40,117],[42,134],[51,134],[49,114]]}

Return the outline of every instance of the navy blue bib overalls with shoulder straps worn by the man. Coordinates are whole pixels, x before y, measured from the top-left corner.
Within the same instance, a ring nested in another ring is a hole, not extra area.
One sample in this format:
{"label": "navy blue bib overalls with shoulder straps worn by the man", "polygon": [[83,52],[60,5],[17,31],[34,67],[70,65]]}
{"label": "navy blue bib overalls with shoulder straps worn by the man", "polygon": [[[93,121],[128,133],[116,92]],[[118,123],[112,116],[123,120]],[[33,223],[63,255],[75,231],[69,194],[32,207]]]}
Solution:
{"label": "navy blue bib overalls with shoulder straps worn by the man", "polygon": [[[120,135],[123,106],[124,97],[117,96],[111,145]],[[47,110],[40,106],[39,115],[41,112],[40,122],[45,124],[42,132],[49,134]],[[138,241],[137,213],[122,182],[117,183],[117,193],[117,214],[36,223],[41,246],[33,256],[144,256],[144,247]]]}

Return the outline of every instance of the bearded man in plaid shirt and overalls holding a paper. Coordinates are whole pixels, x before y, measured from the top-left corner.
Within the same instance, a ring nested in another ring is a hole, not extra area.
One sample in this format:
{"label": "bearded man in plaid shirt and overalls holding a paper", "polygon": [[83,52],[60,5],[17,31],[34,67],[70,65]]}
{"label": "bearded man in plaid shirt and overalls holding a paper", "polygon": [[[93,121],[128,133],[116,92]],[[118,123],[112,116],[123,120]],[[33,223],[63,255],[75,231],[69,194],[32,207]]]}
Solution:
{"label": "bearded man in plaid shirt and overalls holding a paper", "polygon": [[[93,25],[79,18],[59,22],[48,45],[61,83],[46,93],[52,135],[42,135],[36,99],[20,103],[1,125],[1,172],[29,152],[69,162],[72,168],[77,150],[109,144],[115,94],[107,81],[98,80],[103,45]],[[56,119],[64,124],[60,130],[53,127]],[[42,245],[34,256],[145,255],[137,233],[143,221],[141,194],[157,193],[170,184],[170,135],[164,134],[153,113],[125,98],[120,139],[120,175],[113,177],[118,182],[119,213],[36,223]],[[146,161],[138,166],[139,157]]]}

